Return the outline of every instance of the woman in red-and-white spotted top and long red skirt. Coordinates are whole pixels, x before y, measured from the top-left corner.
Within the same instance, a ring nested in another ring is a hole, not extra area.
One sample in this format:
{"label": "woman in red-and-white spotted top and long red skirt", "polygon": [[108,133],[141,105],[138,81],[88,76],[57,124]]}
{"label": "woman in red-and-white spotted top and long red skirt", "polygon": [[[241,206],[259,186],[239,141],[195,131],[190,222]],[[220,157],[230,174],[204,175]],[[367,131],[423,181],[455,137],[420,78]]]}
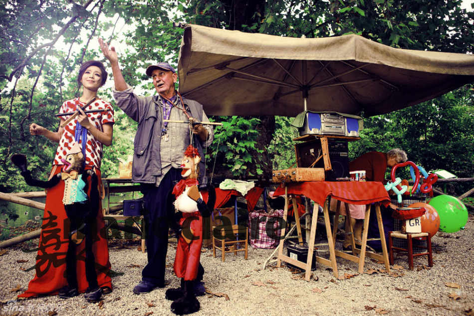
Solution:
{"label": "woman in red-and-white spotted top and long red skirt", "polygon": [[[83,88],[82,95],[79,98],[64,102],[59,111],[59,113],[79,111],[79,114],[64,127],[59,127],[57,132],[51,132],[35,123],[30,125],[29,131],[31,135],[43,135],[49,140],[59,143],[50,176],[61,172],[64,165],[61,159],[65,158],[65,154],[72,148],[74,143],[77,143],[85,157],[85,169],[92,169],[99,179],[99,186],[101,185],[100,163],[102,159],[102,146],[112,145],[114,124],[112,106],[110,103],[97,98],[97,90],[105,84],[106,79],[107,71],[100,61],[90,60],[84,62],[77,76],[77,81]],[[84,107],[93,98],[96,98],[95,101],[84,109],[87,112],[84,113],[80,108]],[[99,112],[90,113],[89,111],[91,110],[99,110]],[[63,125],[71,115],[61,116],[59,125]],[[66,216],[64,204],[62,203],[63,195],[64,181],[62,180],[47,191],[36,257],[35,276],[29,282],[28,289],[20,294],[19,297],[56,295],[60,289],[62,290],[67,285],[65,278],[65,255],[69,243],[69,219]],[[110,279],[111,265],[107,237],[103,234],[105,232],[105,225],[102,203],[99,203],[96,222],[97,225],[93,225],[95,227],[92,228],[91,232],[94,236],[92,251],[95,258],[97,283],[106,293],[112,290],[112,283]],[[85,274],[84,244],[82,242],[76,249],[77,291],[75,293],[86,292],[88,286]],[[90,264],[88,267],[90,269]]]}

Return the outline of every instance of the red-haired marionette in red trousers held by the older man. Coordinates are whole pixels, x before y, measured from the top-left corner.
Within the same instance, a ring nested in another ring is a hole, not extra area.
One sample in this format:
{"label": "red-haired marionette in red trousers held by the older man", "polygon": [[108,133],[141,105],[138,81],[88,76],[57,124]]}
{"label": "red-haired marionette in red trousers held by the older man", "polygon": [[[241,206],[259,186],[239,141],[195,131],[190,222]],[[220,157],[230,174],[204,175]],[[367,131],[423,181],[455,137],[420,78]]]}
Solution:
{"label": "red-haired marionette in red trousers held by the older man", "polygon": [[171,229],[179,237],[174,271],[181,278],[181,287],[166,291],[166,298],[173,301],[171,311],[177,315],[195,313],[200,309],[193,287],[198,276],[203,245],[203,217],[211,215],[216,201],[216,192],[212,186],[208,189],[207,204],[199,191],[200,161],[198,150],[188,146],[181,161],[183,179],[175,185],[167,199],[170,219],[176,218],[175,211],[182,213],[179,223],[176,220],[170,223]]}

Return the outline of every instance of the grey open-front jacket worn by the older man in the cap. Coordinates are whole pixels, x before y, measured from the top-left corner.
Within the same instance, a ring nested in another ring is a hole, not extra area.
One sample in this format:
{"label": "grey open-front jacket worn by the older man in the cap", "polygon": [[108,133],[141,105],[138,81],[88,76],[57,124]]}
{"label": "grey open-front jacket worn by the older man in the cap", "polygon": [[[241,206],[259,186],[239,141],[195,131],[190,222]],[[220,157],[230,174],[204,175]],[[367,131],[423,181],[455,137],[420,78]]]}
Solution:
{"label": "grey open-front jacket worn by the older man in the cap", "polygon": [[[138,96],[129,86],[124,91],[114,90],[114,99],[117,106],[122,109],[132,120],[138,122],[137,133],[134,141],[132,181],[140,183],[155,183],[156,177],[162,175],[160,144],[163,112],[161,100],[156,101],[156,96]],[[196,101],[183,98],[190,115],[200,122],[203,120],[203,106]],[[160,109],[160,111],[157,111]],[[212,131],[212,130],[211,130]],[[195,136],[194,136],[195,137]],[[198,151],[204,166],[202,142],[195,137]],[[202,179],[201,179],[202,180]]]}

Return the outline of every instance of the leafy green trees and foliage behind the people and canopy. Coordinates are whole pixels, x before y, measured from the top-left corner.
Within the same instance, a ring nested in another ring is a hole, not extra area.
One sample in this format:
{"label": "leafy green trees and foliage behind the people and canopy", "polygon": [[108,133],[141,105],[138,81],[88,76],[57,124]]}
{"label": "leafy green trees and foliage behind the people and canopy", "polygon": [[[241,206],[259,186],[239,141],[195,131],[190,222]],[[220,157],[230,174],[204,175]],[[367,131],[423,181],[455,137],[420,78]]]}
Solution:
{"label": "leafy green trees and foliage behind the people and canopy", "polygon": [[[28,189],[9,162],[13,153],[28,157],[33,176],[45,179],[49,174],[57,144],[30,136],[28,126],[34,122],[57,130],[53,115],[62,102],[80,94],[75,82],[79,64],[87,59],[104,60],[97,36],[114,41],[127,83],[145,95],[155,93],[144,74],[149,64],[169,61],[177,66],[183,29],[174,28],[173,21],[290,37],[355,33],[393,47],[473,52],[474,13],[461,10],[461,0],[84,3],[87,6],[69,0],[5,0],[0,7],[1,191]],[[117,17],[127,27],[117,27]],[[350,142],[350,158],[399,147],[427,170],[444,168],[458,176],[473,176],[470,88],[395,113],[364,118],[361,140]],[[102,89],[99,95],[113,104],[110,89]],[[118,109],[115,120],[113,145],[104,147],[103,177],[116,176],[118,158],[132,154],[136,123]],[[269,166],[286,168],[294,162],[291,118],[276,117],[276,128],[265,118],[215,120],[225,126],[216,129],[208,168],[217,162],[216,169],[233,177],[265,174]],[[271,137],[262,138],[263,134]]]}

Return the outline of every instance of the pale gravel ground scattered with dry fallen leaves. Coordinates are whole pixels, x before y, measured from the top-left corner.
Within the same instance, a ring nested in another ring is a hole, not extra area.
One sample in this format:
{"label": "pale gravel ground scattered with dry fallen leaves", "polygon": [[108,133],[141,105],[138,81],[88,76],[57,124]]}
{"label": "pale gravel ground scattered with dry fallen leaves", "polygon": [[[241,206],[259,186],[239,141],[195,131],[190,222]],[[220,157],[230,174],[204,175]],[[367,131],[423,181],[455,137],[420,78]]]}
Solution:
{"label": "pale gravel ground scattered with dry fallen leaves", "polygon": [[[465,230],[433,237],[432,268],[427,267],[424,256],[415,258],[415,270],[409,271],[407,257],[400,255],[387,273],[383,264],[367,258],[364,274],[359,275],[355,263],[337,258],[339,278],[317,264],[309,282],[304,281],[303,273],[276,268],[275,264],[263,270],[272,250],[249,247],[248,260],[239,253],[227,255],[224,263],[219,254],[213,258],[212,250],[206,250],[201,256],[204,281],[213,294],[199,298],[201,310],[194,315],[474,315],[473,224],[474,216],[470,215]],[[341,247],[338,242],[336,249]],[[168,287],[179,284],[172,271],[175,249],[176,244],[170,243]],[[31,266],[35,255],[8,249],[0,256],[0,315],[174,315],[171,302],[165,299],[166,288],[132,293],[147,262],[146,253],[137,248],[110,249],[112,269],[124,274],[112,279],[113,292],[99,303],[87,303],[83,295],[68,300],[51,296],[8,302],[33,278],[33,271],[22,269]],[[376,272],[367,273],[371,271]],[[17,312],[15,306],[27,311]]]}

